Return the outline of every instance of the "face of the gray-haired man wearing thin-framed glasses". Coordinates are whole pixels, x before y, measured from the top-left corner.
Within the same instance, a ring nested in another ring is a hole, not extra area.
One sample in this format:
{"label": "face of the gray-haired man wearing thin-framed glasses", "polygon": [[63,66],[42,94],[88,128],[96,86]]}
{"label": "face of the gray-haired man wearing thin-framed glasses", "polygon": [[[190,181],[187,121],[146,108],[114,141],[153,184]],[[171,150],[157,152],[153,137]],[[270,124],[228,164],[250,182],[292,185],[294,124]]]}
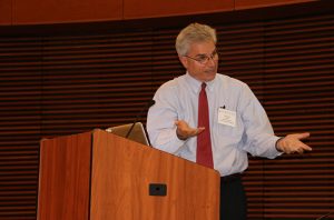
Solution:
{"label": "face of the gray-haired man wearing thin-framed glasses", "polygon": [[218,54],[214,42],[193,43],[188,53],[180,56],[179,60],[195,79],[203,82],[215,79],[218,70]]}

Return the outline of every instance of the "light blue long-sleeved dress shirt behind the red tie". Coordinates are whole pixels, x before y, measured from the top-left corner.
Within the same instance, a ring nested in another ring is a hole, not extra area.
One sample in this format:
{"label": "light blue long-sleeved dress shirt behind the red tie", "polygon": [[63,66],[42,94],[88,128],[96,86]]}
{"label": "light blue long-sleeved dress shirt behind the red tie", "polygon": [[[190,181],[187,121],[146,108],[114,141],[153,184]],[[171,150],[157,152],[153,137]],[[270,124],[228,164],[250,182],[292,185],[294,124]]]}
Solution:
{"label": "light blue long-sleeved dress shirt behind the red tie", "polygon": [[[148,110],[147,131],[154,148],[196,162],[197,137],[179,140],[176,120],[197,128],[200,81],[188,73],[164,83],[155,93],[156,103]],[[248,167],[247,152],[275,158],[275,143],[268,117],[249,87],[217,73],[207,82],[214,169],[220,176],[243,172]],[[236,112],[235,127],[218,123],[218,109]]]}

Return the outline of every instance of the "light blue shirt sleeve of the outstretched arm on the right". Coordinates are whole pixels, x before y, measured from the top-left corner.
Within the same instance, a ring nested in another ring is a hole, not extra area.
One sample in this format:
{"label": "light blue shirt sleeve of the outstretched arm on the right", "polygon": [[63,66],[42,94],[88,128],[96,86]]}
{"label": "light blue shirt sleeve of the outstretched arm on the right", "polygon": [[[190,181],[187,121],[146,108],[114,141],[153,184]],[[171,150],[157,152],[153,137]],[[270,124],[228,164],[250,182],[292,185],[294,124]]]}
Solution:
{"label": "light blue shirt sleeve of the outstretched arm on the right", "polygon": [[245,126],[243,149],[252,156],[269,159],[282,154],[276,149],[279,137],[274,134],[269,119],[248,86],[240,93],[239,111]]}

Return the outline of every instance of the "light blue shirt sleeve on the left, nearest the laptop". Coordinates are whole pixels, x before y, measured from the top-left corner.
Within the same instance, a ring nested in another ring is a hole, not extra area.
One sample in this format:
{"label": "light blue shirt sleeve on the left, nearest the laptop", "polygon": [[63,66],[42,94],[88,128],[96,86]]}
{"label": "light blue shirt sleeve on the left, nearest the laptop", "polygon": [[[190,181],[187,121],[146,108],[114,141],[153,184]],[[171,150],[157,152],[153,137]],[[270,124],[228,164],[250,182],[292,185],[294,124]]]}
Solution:
{"label": "light blue shirt sleeve on the left, nearest the laptop", "polygon": [[176,154],[185,141],[176,134],[177,98],[173,89],[165,87],[159,88],[154,97],[155,104],[148,110],[146,127],[154,148]]}

